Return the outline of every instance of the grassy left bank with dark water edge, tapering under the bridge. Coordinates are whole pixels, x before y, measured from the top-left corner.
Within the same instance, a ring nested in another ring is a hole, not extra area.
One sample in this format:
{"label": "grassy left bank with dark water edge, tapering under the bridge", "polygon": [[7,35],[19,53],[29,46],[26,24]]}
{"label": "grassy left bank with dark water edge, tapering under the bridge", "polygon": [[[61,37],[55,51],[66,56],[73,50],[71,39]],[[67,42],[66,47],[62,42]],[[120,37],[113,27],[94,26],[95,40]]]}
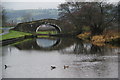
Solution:
{"label": "grassy left bank with dark water edge, tapering under the bridge", "polygon": [[4,46],[15,42],[23,41],[25,39],[41,38],[41,37],[47,38],[49,36],[50,35],[45,32],[43,32],[42,34],[38,34],[38,33],[32,34],[32,33],[10,30],[9,33],[5,35],[0,35],[0,44]]}

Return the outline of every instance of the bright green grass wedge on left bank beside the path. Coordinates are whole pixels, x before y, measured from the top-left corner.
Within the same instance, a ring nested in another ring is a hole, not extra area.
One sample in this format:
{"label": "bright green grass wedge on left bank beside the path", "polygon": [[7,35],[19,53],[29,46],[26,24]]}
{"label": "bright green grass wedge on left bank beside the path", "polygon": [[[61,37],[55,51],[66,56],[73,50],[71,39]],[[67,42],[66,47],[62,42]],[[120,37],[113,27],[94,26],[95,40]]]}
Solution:
{"label": "bright green grass wedge on left bank beside the path", "polygon": [[32,34],[10,30],[10,33],[0,36],[0,40],[10,39],[10,38],[18,38],[18,37],[23,37],[25,35],[32,35]]}

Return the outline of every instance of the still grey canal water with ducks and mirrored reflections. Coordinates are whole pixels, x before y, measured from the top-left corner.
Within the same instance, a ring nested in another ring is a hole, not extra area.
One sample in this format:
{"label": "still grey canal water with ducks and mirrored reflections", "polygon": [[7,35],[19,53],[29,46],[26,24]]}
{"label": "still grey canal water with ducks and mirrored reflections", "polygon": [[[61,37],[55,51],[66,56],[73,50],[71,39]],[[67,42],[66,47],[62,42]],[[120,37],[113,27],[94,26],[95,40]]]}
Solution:
{"label": "still grey canal water with ducks and mirrored reflections", "polygon": [[118,78],[116,47],[72,38],[38,38],[2,50],[2,78]]}

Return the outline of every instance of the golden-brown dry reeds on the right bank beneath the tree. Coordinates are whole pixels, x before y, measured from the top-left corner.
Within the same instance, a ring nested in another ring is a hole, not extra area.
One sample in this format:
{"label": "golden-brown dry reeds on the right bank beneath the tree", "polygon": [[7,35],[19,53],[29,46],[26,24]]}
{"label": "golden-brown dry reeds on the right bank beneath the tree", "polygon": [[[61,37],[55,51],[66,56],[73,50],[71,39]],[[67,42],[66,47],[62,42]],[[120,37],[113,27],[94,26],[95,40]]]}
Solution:
{"label": "golden-brown dry reeds on the right bank beneath the tree", "polygon": [[94,35],[90,37],[90,32],[85,32],[82,34],[77,35],[78,38],[89,41],[94,45],[97,46],[104,46],[106,43],[112,44],[112,45],[117,45],[119,46],[119,41],[120,41],[120,32],[114,32],[114,33],[107,33],[107,34],[102,34],[102,35]]}

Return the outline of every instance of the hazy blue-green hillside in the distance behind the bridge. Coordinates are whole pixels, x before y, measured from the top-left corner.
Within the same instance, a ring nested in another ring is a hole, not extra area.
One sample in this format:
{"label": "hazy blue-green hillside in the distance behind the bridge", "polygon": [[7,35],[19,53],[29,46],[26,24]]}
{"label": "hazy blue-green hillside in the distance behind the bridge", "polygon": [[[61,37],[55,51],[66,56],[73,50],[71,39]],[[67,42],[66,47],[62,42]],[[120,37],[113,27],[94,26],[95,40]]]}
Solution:
{"label": "hazy blue-green hillside in the distance behind the bridge", "polygon": [[9,17],[8,21],[11,20],[16,22],[21,22],[23,16],[32,13],[30,18],[34,18],[34,20],[47,19],[47,18],[58,18],[58,10],[57,9],[26,9],[26,10],[6,10],[6,16]]}

